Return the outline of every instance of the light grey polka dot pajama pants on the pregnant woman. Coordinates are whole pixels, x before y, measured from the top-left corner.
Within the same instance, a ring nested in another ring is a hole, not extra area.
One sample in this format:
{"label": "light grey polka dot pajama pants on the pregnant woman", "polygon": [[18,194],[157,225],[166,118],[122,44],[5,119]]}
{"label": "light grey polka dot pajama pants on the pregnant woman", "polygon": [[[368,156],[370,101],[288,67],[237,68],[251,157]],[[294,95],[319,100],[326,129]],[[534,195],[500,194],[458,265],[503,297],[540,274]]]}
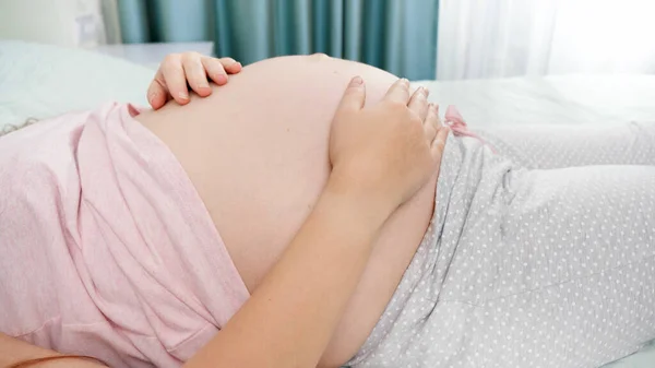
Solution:
{"label": "light grey polka dot pajama pants on the pregnant woman", "polygon": [[348,365],[598,367],[655,339],[655,124],[522,129],[481,132],[498,154],[449,138],[428,232]]}

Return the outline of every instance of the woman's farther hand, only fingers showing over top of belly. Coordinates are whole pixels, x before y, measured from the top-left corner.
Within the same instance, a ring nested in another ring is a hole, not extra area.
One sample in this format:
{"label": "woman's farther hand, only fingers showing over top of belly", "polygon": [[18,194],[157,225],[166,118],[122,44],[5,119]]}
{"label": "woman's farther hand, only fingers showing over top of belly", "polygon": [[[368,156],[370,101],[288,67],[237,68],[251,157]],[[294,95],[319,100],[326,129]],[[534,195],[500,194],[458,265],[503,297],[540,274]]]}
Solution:
{"label": "woman's farther hand, only fingers showing over top of belly", "polygon": [[[168,55],[147,88],[147,102],[158,109],[169,99],[180,105],[189,103],[189,86],[201,97],[212,94],[209,80],[218,85],[227,83],[227,74],[241,71],[241,63],[230,58],[216,59],[198,52]],[[209,80],[207,80],[209,76]]]}

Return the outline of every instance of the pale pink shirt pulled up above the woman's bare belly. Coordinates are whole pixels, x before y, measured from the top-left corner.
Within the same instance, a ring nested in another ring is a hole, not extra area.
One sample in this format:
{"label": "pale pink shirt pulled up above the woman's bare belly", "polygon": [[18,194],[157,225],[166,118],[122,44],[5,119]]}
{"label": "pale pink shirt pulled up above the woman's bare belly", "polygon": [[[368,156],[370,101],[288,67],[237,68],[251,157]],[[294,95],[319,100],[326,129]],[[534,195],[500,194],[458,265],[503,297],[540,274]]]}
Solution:
{"label": "pale pink shirt pulled up above the woman's bare belly", "polygon": [[178,367],[248,298],[136,114],[108,104],[0,138],[0,332],[115,367]]}

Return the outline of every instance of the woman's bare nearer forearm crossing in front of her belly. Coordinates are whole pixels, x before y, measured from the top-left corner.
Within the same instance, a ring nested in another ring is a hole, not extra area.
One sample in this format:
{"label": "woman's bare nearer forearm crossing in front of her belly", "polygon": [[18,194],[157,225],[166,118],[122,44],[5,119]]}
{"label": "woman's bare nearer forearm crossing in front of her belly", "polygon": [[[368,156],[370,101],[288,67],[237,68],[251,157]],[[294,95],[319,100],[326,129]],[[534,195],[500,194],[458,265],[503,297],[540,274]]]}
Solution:
{"label": "woman's bare nearer forearm crossing in front of her belly", "polygon": [[205,367],[314,367],[386,219],[330,186],[279,261],[190,361]]}

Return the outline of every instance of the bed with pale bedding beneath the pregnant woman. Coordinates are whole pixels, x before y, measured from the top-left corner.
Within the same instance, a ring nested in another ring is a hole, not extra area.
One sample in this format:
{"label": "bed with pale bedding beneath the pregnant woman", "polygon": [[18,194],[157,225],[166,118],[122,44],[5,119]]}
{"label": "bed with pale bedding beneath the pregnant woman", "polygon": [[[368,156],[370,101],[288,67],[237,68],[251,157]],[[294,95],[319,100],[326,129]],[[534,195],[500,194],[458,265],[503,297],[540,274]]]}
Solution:
{"label": "bed with pale bedding beneath the pregnant woman", "polygon": [[[145,105],[154,70],[99,54],[0,41],[0,132],[27,119],[106,100]],[[468,124],[655,121],[655,75],[567,75],[487,81],[418,81],[430,99],[458,107]],[[655,341],[604,368],[655,367]]]}

